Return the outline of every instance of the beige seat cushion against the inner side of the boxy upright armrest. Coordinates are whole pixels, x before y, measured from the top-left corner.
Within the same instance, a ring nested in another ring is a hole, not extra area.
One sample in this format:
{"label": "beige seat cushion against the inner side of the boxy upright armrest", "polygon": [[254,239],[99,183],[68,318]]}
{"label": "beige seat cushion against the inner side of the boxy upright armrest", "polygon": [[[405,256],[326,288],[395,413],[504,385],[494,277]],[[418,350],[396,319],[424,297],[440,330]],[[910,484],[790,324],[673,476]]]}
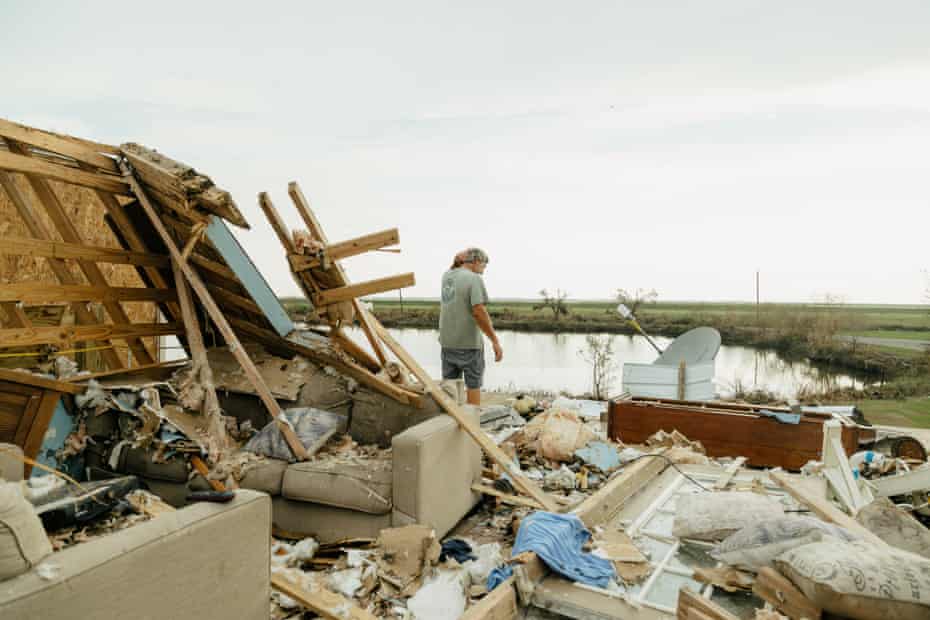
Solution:
{"label": "beige seat cushion against the inner side of the boxy upright armrest", "polygon": [[281,495],[290,500],[382,515],[391,512],[391,483],[390,457],[334,457],[289,465],[281,483]]}

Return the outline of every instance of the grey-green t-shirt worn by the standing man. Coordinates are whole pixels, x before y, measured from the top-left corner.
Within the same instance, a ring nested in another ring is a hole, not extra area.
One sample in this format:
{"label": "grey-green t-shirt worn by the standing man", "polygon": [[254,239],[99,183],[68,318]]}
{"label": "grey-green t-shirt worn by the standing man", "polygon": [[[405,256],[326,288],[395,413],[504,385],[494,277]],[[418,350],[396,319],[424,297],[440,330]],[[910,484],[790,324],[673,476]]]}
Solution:
{"label": "grey-green t-shirt worn by the standing man", "polygon": [[439,344],[446,349],[482,349],[481,330],[471,314],[472,306],[488,303],[481,276],[459,267],[442,276],[439,309]]}

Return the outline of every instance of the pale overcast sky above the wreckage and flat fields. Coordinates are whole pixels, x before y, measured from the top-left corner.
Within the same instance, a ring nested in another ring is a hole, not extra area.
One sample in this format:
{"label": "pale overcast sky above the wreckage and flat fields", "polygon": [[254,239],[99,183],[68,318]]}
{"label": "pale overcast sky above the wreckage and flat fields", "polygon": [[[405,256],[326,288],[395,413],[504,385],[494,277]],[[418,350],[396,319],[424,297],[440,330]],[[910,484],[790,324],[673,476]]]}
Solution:
{"label": "pale overcast sky above the wreckage and flat fields", "polygon": [[[210,6],[212,5],[212,6]],[[919,303],[930,3],[0,0],[0,116],[210,175],[296,294],[256,194],[331,240],[398,227],[436,296]]]}

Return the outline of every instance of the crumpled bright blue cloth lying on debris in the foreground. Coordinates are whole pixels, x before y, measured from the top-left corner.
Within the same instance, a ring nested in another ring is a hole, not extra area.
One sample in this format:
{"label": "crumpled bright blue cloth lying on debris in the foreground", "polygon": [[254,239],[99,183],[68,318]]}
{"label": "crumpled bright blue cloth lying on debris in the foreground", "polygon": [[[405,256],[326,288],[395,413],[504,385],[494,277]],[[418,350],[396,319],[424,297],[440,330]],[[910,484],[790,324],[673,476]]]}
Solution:
{"label": "crumpled bright blue cloth lying on debris in the foreground", "polygon": [[[553,572],[571,581],[606,588],[616,578],[609,560],[583,553],[582,546],[591,538],[584,523],[572,514],[537,511],[523,519],[511,557],[534,551]],[[512,574],[511,567],[497,568],[488,576],[488,590]]]}

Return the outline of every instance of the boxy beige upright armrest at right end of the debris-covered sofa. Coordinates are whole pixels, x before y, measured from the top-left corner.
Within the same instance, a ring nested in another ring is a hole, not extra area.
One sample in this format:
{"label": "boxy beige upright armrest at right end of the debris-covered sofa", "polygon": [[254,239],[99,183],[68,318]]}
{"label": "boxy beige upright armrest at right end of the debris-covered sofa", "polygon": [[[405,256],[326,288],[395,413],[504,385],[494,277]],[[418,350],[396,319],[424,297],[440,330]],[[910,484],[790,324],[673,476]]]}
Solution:
{"label": "boxy beige upright armrest at right end of the debris-covered sofa", "polygon": [[[478,421],[479,410],[472,412]],[[478,502],[481,449],[458,423],[439,415],[394,437],[395,525],[430,525],[437,536],[452,529]]]}

